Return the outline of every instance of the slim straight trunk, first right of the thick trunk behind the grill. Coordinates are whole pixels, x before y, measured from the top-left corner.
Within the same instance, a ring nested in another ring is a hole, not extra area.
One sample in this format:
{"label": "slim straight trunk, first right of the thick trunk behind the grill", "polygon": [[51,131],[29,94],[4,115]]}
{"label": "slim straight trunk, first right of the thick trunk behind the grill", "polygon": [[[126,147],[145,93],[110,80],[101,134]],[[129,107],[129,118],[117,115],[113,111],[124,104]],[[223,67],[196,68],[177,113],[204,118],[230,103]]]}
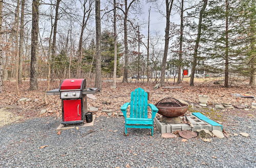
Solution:
{"label": "slim straight trunk, first right of the thick trunk behind the grill", "polygon": [[113,88],[116,88],[116,70],[117,70],[117,33],[116,33],[116,0],[114,0],[114,74]]}

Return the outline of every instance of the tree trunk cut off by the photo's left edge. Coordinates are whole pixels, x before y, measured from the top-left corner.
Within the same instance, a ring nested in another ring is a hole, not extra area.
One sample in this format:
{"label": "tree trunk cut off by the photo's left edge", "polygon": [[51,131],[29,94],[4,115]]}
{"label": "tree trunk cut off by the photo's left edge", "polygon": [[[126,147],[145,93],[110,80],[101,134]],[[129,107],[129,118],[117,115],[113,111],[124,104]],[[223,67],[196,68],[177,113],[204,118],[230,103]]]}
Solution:
{"label": "tree trunk cut off by the photo's left edge", "polygon": [[3,91],[3,37],[2,37],[2,22],[3,22],[3,0],[0,0],[0,93]]}

